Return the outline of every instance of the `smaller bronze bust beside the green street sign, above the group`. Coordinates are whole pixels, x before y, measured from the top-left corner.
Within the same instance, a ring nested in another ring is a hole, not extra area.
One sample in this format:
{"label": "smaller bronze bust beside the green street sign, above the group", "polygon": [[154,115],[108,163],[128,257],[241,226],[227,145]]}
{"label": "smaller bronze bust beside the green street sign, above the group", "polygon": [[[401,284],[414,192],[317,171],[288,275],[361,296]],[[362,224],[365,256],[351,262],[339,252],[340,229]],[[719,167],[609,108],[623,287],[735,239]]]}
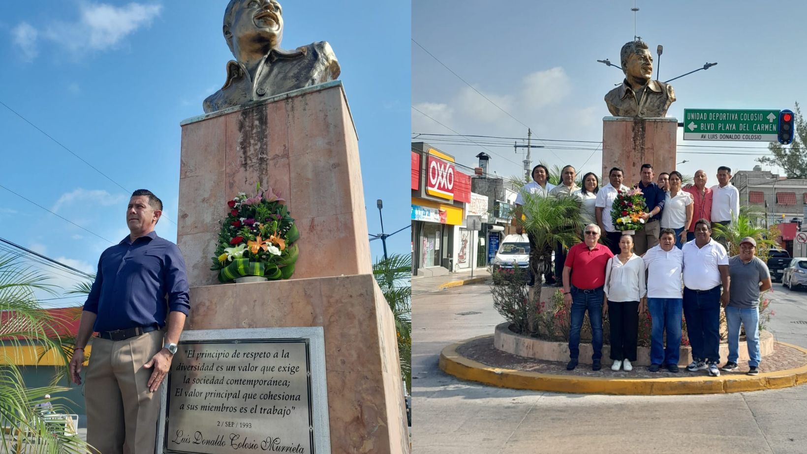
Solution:
{"label": "smaller bronze bust beside the green street sign, above the group", "polygon": [[620,52],[625,80],[605,95],[608,111],[615,117],[653,118],[667,115],[675,102],[672,85],[654,81],[653,56],[647,44],[631,41]]}

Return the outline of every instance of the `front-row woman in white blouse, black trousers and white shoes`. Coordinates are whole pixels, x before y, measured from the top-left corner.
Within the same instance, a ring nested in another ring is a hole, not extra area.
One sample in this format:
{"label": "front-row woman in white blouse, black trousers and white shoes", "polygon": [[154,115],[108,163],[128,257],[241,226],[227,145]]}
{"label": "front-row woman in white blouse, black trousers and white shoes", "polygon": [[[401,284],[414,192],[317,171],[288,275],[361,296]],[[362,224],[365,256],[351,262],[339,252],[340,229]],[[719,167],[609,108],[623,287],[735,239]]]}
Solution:
{"label": "front-row woman in white blouse, black trousers and white shoes", "polygon": [[636,360],[636,339],[639,329],[640,310],[644,302],[639,300],[647,293],[645,285],[645,262],[633,253],[633,236],[622,235],[619,239],[621,252],[608,259],[605,265],[605,296],[603,314],[608,312],[611,324],[611,370],[633,370],[631,361]]}

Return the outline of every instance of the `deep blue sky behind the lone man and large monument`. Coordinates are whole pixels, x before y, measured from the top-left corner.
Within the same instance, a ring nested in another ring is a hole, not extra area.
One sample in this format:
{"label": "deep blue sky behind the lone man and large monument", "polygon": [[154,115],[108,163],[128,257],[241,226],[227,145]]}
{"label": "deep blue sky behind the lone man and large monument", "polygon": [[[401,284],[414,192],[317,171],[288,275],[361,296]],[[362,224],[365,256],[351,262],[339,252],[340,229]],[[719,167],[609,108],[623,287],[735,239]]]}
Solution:
{"label": "deep blue sky behind the lone man and large monument", "polygon": [[[227,2],[65,0],[0,2],[0,106],[6,186],[99,237],[0,189],[0,237],[83,271],[128,234],[132,190],[147,188],[177,219],[180,127],[203,113],[232,59],[221,34]],[[408,2],[282,2],[282,47],[326,40],[341,65],[359,137],[370,233],[409,220],[410,7]],[[397,144],[397,145],[396,145]],[[125,188],[125,190],[123,189]],[[176,224],[157,233],[176,239]],[[408,230],[387,241],[410,252]],[[374,258],[380,241],[371,243]],[[61,277],[59,285],[73,285]],[[61,300],[60,302],[77,302]]]}

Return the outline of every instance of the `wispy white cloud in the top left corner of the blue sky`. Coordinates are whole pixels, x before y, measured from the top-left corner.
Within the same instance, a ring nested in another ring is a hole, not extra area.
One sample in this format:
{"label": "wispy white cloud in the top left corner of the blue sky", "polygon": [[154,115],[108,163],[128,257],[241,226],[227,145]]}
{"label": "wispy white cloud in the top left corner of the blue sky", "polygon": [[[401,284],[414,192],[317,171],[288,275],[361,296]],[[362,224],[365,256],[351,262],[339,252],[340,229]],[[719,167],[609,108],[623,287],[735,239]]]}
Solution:
{"label": "wispy white cloud in the top left corner of the blue sky", "polygon": [[124,38],[141,27],[148,27],[160,15],[161,5],[128,3],[112,6],[106,3],[80,2],[79,18],[73,22],[53,21],[40,31],[28,23],[20,23],[12,31],[14,42],[23,52],[23,59],[34,60],[38,55],[37,37],[41,34],[73,55],[88,51],[116,48]]}

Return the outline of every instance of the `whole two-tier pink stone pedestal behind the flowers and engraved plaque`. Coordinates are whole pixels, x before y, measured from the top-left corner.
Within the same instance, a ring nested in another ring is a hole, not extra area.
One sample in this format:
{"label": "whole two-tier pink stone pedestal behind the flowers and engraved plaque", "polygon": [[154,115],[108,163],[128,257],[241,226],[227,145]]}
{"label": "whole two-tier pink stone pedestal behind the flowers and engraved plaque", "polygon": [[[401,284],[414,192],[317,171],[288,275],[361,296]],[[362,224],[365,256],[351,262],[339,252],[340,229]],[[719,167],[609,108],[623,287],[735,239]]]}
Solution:
{"label": "whole two-tier pink stone pedestal behind the flowers and engraved plaque", "polygon": [[[358,139],[341,82],[182,122],[186,330],[323,327],[331,452],[409,452],[395,321],[372,277]],[[287,281],[219,284],[228,200],[279,190],[300,231]]]}

